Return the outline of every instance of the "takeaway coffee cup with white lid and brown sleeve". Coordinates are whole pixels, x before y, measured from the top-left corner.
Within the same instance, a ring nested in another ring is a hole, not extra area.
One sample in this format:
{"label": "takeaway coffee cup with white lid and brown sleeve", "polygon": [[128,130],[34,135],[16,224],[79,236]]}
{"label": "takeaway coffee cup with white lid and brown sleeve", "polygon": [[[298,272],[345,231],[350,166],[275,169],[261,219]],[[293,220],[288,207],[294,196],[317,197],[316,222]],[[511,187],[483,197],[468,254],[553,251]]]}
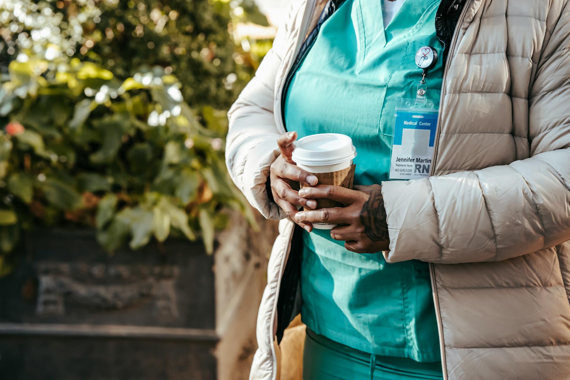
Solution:
{"label": "takeaway coffee cup with white lid and brown sleeve", "polygon": [[[340,133],[312,134],[295,141],[292,160],[301,169],[314,174],[319,185],[342,186],[352,189],[355,165],[352,160],[356,157],[356,148],[352,139]],[[304,187],[303,183],[300,187]],[[317,208],[342,207],[339,202],[327,198],[316,199]],[[304,208],[304,210],[309,210]],[[319,230],[330,230],[337,224],[312,223]]]}

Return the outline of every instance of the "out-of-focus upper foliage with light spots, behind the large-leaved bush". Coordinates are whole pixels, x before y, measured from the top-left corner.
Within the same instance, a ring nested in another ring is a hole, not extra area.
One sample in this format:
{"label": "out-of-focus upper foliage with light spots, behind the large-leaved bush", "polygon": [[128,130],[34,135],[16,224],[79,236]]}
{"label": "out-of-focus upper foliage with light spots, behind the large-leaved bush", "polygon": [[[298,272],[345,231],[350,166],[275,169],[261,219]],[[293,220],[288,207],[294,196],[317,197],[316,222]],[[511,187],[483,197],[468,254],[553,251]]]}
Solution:
{"label": "out-of-focus upper foliage with light spots, behind the large-leaved bush", "polygon": [[193,108],[227,109],[271,47],[231,38],[235,24],[252,21],[267,24],[253,0],[4,0],[0,69],[22,50],[93,61],[122,79],[161,66]]}

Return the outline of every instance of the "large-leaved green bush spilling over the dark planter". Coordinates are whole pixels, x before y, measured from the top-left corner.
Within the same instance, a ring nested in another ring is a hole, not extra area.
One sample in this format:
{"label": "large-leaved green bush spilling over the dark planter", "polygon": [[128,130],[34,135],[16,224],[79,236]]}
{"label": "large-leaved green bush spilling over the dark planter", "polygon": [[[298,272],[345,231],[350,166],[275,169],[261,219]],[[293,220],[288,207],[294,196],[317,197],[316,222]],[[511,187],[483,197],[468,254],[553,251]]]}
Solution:
{"label": "large-leaved green bush spilling over the dark planter", "polygon": [[211,252],[223,207],[249,215],[223,162],[224,112],[204,108],[205,128],[161,68],[119,81],[91,62],[47,67],[13,61],[0,93],[3,252],[35,220],[95,226],[109,251],[200,230]]}

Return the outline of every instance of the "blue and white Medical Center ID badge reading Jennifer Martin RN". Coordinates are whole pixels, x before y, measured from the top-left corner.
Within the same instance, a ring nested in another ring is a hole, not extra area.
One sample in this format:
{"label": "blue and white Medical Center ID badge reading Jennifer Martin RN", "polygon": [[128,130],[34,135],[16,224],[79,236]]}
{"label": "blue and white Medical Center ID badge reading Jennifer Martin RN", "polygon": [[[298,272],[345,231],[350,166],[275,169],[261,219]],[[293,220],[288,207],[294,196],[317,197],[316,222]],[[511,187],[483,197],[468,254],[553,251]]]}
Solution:
{"label": "blue and white Medical Center ID badge reading Jennifer Martin RN", "polygon": [[396,107],[389,179],[429,177],[438,108],[425,99],[401,99]]}

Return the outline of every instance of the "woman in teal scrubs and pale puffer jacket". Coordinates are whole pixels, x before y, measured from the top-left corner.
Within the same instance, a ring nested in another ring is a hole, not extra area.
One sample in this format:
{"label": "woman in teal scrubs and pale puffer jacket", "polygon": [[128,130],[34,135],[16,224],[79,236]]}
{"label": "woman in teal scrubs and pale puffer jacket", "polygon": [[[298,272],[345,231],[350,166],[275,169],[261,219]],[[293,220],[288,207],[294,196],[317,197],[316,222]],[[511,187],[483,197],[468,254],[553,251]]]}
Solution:
{"label": "woman in teal scrubs and pale puffer jacket", "polygon": [[[274,342],[300,312],[305,379],[568,379],[570,5],[393,5],[294,1],[230,110],[232,178],[282,219],[250,378],[278,376]],[[422,47],[439,53],[425,72]],[[394,109],[424,74],[430,177],[388,181]],[[324,132],[351,136],[355,190],[292,161]]]}

